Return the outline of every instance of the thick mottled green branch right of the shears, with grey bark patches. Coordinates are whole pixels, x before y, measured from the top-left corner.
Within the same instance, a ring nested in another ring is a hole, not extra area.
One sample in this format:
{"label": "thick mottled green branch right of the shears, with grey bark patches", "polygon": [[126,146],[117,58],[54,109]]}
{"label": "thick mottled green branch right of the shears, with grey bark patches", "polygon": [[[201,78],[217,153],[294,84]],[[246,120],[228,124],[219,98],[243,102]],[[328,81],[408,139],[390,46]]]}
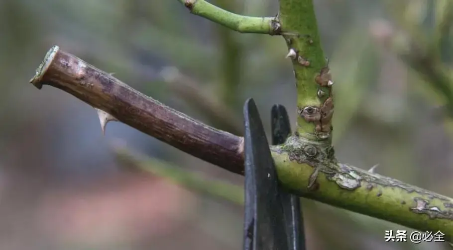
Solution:
{"label": "thick mottled green branch right of the shears, with grey bark patches", "polygon": [[[307,150],[308,148],[310,148]],[[315,149],[314,149],[315,148]],[[319,149],[323,149],[319,151]],[[290,137],[272,147],[279,181],[300,196],[453,241],[453,199],[329,159],[332,147]],[[307,153],[309,152],[309,153]],[[316,172],[315,188],[308,188]]]}

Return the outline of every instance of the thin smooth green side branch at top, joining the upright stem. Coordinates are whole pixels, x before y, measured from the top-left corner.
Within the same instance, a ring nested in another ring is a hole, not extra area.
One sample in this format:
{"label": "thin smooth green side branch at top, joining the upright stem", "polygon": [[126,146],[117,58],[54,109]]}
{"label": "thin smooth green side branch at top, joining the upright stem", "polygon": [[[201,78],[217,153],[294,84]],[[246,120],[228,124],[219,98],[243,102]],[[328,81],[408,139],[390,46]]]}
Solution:
{"label": "thin smooth green side branch at top, joining the upright stem", "polygon": [[279,35],[279,26],[273,17],[251,17],[231,13],[205,0],[178,0],[192,14],[204,17],[240,33]]}

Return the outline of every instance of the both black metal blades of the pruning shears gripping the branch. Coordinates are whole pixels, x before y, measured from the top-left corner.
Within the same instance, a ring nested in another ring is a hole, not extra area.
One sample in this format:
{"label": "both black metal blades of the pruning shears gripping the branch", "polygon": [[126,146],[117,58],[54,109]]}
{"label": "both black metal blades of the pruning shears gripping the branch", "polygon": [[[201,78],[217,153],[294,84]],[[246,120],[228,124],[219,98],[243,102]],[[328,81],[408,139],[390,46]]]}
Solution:
{"label": "both black metal blades of the pruning shears gripping the branch", "polygon": [[[272,107],[272,143],[291,132],[285,108]],[[305,250],[299,197],[279,187],[274,161],[253,99],[244,105],[244,250]]]}

